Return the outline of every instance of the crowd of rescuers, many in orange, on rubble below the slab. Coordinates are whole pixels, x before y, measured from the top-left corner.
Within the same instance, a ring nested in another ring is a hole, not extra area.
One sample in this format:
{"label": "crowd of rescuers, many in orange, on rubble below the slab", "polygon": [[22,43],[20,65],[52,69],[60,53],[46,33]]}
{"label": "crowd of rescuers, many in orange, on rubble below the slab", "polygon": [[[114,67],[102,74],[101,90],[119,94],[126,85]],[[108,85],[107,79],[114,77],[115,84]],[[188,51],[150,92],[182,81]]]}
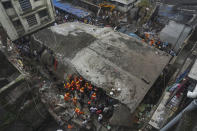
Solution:
{"label": "crowd of rescuers, many in orange, on rubble below the slab", "polygon": [[83,126],[90,122],[93,116],[97,117],[98,122],[107,120],[113,114],[113,105],[116,101],[105,94],[105,92],[93,86],[82,77],[68,76],[64,83],[64,100],[66,103],[72,103],[75,107],[74,115],[87,115],[83,108],[87,107],[90,116],[83,117]]}

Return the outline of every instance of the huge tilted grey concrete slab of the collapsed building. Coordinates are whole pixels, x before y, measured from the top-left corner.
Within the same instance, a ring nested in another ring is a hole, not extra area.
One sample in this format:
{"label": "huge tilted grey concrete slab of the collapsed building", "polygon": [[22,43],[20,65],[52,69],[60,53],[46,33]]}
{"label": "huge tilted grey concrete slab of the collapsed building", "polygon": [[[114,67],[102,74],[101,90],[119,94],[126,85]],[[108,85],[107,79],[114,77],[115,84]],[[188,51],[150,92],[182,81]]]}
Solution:
{"label": "huge tilted grey concrete slab of the collapsed building", "polygon": [[[58,79],[64,80],[71,70],[76,71],[107,94],[115,90],[112,97],[127,105],[130,113],[171,58],[165,52],[111,28],[82,23],[44,29],[34,35],[34,40],[55,53],[58,65],[53,72]],[[121,90],[117,91],[118,88]]]}

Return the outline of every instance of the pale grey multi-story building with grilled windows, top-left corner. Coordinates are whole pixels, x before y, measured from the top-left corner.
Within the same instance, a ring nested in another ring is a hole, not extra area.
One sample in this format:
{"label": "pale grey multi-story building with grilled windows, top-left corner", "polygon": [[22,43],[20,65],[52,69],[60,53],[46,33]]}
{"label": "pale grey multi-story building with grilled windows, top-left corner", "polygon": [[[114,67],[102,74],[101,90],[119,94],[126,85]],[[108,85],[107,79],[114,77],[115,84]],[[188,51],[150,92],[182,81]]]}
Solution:
{"label": "pale grey multi-story building with grilled windows, top-left corner", "polygon": [[54,21],[51,0],[0,1],[0,23],[11,40],[35,32]]}

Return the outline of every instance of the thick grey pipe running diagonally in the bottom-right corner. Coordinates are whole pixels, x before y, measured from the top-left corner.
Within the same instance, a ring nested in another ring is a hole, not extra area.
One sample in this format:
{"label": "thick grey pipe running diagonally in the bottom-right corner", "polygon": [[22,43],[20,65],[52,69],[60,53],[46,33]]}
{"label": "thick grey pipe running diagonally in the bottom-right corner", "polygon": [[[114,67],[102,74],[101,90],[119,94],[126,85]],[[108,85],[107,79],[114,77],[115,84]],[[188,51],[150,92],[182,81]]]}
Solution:
{"label": "thick grey pipe running diagonally in the bottom-right corner", "polygon": [[194,109],[197,109],[197,99],[193,100],[183,111],[181,111],[175,118],[168,122],[160,131],[168,131],[181,119],[184,112]]}

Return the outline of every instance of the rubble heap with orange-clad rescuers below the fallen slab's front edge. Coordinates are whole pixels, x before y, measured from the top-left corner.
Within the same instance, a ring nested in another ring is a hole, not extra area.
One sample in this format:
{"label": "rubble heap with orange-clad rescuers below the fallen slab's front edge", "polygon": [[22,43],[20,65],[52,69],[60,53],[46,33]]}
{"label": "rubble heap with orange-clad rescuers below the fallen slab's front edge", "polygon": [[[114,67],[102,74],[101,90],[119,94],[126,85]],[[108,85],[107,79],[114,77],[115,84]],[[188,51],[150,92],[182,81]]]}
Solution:
{"label": "rubble heap with orange-clad rescuers below the fallen slab's front edge", "polygon": [[72,75],[60,85],[44,81],[40,96],[62,126],[88,130],[98,124],[110,128],[109,118],[113,115],[114,105],[118,103],[102,89],[82,77]]}

